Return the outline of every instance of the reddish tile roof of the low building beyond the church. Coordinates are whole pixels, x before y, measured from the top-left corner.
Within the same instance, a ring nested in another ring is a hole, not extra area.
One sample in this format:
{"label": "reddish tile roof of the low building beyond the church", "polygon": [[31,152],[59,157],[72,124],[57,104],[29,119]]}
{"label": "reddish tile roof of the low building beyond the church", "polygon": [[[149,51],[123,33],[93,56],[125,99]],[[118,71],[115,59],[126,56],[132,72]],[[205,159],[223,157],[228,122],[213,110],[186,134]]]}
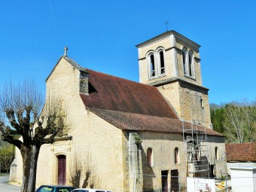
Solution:
{"label": "reddish tile roof of the low building beyond the church", "polygon": [[226,144],[227,161],[256,162],[256,142]]}

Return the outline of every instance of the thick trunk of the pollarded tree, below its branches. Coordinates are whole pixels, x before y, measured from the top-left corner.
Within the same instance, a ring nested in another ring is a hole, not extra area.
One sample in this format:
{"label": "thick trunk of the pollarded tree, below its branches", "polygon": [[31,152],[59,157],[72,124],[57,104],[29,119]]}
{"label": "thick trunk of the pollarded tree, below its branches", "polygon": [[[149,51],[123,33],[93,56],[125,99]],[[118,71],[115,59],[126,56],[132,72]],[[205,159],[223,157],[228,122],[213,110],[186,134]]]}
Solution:
{"label": "thick trunk of the pollarded tree, below its branches", "polygon": [[20,149],[23,157],[23,184],[21,192],[34,192],[36,181],[36,169],[38,165],[38,154],[41,146],[23,145]]}

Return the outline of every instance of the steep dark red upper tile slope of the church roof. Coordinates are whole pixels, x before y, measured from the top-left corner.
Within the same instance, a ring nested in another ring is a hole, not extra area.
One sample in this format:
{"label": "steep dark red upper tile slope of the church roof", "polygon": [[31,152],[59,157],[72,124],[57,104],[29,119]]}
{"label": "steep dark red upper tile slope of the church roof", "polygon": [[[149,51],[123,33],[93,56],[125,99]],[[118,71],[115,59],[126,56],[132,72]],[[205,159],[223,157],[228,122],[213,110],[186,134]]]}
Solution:
{"label": "steep dark red upper tile slope of the church roof", "polygon": [[178,118],[157,87],[139,84],[90,69],[87,71],[93,91],[89,95],[81,94],[85,106]]}

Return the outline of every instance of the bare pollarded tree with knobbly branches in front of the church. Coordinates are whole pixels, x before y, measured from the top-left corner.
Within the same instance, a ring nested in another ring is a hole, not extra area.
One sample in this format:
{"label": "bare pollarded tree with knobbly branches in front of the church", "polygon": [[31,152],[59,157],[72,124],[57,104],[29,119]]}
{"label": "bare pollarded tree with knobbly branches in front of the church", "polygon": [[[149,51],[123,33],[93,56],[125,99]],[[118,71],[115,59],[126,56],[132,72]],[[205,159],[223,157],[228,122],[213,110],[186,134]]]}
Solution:
{"label": "bare pollarded tree with knobbly branches in front of the church", "polygon": [[[44,104],[35,81],[6,84],[0,93],[0,130],[4,141],[20,149],[23,158],[22,192],[35,191],[41,145],[53,143],[65,126],[60,102],[47,97]],[[17,139],[17,135],[20,139]]]}

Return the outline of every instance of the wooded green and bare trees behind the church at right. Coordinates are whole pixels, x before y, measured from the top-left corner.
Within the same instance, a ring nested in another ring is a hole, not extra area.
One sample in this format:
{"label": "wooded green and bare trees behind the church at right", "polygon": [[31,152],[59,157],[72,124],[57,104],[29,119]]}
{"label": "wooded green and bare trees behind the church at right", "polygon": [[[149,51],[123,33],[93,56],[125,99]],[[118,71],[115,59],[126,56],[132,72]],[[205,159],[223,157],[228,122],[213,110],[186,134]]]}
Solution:
{"label": "wooded green and bare trees behind the church at right", "polygon": [[227,143],[256,142],[256,101],[211,104],[210,112],[213,129]]}

